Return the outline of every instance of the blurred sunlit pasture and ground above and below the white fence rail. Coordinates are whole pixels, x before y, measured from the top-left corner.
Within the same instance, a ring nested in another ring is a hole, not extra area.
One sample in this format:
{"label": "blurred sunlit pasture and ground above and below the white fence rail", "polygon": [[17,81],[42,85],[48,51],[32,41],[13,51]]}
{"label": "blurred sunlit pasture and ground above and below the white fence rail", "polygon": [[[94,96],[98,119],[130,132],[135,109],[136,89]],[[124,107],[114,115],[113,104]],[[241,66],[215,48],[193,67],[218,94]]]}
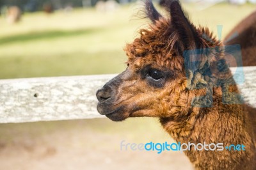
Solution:
{"label": "blurred sunlit pasture and ground above and below the white fence rail", "polygon": [[[197,26],[217,35],[222,25],[220,39],[254,3],[182,1]],[[147,27],[142,8],[134,0],[0,0],[0,79],[120,73],[125,43]],[[123,140],[173,142],[154,118],[0,124],[0,169],[191,169],[183,153],[121,151]]]}

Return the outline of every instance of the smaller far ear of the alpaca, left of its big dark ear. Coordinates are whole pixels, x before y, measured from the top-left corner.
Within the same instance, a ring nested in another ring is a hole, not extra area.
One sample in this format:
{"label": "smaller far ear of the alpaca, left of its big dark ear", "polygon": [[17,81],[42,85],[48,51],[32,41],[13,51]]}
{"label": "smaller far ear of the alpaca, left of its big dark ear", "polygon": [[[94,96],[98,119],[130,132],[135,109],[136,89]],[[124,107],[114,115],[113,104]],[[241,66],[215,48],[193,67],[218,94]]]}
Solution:
{"label": "smaller far ear of the alpaca, left of its big dark ear", "polygon": [[149,18],[153,23],[155,23],[162,17],[162,15],[159,12],[157,12],[151,0],[145,1],[145,13],[147,15],[147,18]]}

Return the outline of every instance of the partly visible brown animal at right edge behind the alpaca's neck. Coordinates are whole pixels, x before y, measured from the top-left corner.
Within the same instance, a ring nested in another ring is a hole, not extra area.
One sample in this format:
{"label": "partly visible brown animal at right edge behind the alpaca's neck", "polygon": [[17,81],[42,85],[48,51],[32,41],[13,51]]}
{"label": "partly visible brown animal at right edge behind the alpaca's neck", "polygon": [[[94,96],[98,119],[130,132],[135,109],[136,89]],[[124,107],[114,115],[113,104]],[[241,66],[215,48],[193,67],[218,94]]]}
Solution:
{"label": "partly visible brown animal at right edge behind the alpaca's neck", "polygon": [[225,37],[225,45],[241,45],[243,66],[256,66],[256,12],[243,19]]}

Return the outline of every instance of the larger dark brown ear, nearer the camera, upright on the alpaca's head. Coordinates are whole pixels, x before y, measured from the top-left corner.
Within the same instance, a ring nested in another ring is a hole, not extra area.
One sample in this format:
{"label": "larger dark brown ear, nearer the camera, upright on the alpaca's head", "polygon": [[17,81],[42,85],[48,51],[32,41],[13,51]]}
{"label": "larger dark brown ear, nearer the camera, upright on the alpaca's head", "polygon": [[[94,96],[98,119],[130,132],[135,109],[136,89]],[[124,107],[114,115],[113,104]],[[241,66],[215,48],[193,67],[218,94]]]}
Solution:
{"label": "larger dark brown ear, nearer the camera, upright on the alpaca's head", "polygon": [[179,40],[184,46],[183,50],[200,48],[200,38],[198,37],[196,28],[186,17],[179,1],[169,1],[166,5],[169,5],[171,25],[179,35]]}

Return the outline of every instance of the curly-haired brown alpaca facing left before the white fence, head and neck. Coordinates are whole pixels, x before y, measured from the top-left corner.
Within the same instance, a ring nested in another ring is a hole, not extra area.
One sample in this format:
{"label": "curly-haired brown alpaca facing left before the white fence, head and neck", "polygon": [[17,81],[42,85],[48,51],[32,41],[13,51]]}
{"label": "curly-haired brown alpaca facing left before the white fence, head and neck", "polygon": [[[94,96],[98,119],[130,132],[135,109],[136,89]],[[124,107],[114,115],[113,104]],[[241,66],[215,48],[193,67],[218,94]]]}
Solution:
{"label": "curly-haired brown alpaca facing left before the white fence, head and neck", "polygon": [[[243,144],[244,151],[184,151],[196,169],[256,169],[255,109],[243,104],[225,50],[195,27],[177,1],[162,17],[151,1],[148,29],[125,48],[127,69],[97,91],[97,109],[113,121],[157,117],[180,143]],[[204,38],[207,37],[207,38]]]}

